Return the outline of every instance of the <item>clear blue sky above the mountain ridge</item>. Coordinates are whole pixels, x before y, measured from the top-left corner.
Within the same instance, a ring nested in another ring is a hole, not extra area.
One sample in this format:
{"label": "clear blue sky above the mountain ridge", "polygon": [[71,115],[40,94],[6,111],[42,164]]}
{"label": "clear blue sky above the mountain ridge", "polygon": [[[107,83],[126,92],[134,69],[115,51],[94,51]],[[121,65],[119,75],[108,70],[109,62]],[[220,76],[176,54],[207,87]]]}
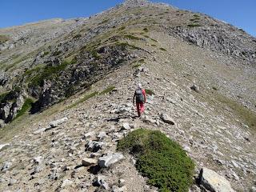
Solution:
{"label": "clear blue sky above the mountain ridge", "polygon": [[[106,10],[122,0],[1,0],[0,27],[49,18],[78,18]],[[209,14],[256,37],[256,0],[153,0]]]}

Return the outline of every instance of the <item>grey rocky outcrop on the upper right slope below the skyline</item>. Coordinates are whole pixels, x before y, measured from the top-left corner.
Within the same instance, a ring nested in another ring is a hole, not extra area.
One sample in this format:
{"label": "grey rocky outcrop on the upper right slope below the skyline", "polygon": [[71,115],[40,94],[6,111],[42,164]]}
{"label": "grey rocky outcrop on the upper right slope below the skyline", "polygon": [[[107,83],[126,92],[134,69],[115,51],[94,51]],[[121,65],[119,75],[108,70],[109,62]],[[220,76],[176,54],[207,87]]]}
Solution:
{"label": "grey rocky outcrop on the upper right slope below the skyline", "polygon": [[256,63],[256,38],[234,26],[224,25],[222,22],[214,23],[206,22],[203,26],[194,27],[177,26],[170,30],[196,46]]}

